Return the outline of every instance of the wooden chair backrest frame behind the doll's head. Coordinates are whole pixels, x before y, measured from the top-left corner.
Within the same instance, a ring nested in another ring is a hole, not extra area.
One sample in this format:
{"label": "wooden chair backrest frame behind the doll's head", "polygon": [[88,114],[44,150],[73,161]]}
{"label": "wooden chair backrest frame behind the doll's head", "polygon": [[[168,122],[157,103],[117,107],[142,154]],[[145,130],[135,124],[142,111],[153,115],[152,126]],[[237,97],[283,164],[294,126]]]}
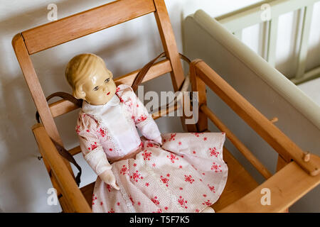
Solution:
{"label": "wooden chair backrest frame behind the doll's head", "polygon": [[[63,145],[53,118],[76,109],[76,106],[69,101],[57,101],[48,105],[30,55],[148,13],[154,13],[167,59],[154,65],[146,74],[144,81],[170,72],[176,91],[181,87],[184,75],[164,0],[113,1],[43,26],[31,28],[14,36],[12,45],[16,57],[36,104],[36,109],[41,116],[43,126],[51,138]],[[138,71],[117,78],[116,83],[131,85]]]}

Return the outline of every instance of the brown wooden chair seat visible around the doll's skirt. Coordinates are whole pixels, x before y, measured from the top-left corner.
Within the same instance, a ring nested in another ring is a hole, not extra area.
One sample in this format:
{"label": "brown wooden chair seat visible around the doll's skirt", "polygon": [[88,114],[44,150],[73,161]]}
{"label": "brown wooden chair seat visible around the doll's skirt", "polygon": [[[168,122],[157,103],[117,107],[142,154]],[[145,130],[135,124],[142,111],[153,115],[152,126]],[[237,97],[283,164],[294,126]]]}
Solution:
{"label": "brown wooden chair seat visible around the doll's skirt", "polygon": [[[228,165],[228,180],[223,194],[212,206],[216,212],[245,196],[245,194],[251,192],[259,185],[226,148],[223,149],[223,160]],[[94,187],[95,182],[92,182],[81,188],[81,192],[90,206],[92,204]]]}

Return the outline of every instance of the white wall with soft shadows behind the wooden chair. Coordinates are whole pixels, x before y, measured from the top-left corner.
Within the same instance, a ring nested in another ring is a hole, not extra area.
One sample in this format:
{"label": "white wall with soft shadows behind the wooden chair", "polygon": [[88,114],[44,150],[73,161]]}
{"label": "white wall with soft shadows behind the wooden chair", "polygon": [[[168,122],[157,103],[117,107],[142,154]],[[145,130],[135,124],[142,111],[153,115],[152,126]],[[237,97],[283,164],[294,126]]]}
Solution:
{"label": "white wall with soft shadows behind the wooden chair", "polygon": [[[47,6],[57,4],[58,18],[69,16],[102,4],[101,0],[0,0],[0,208],[4,212],[58,212],[59,206],[48,206],[47,190],[51,187],[46,168],[39,155],[31,126],[36,123],[35,107],[23,79],[14,50],[13,36],[28,28],[48,23]],[[103,1],[107,3],[110,1]],[[166,0],[178,50],[182,52],[181,20],[197,9],[219,16],[257,0]],[[46,96],[53,92],[70,92],[64,79],[65,64],[81,52],[93,52],[105,59],[115,76],[131,72],[162,51],[153,14],[134,19],[106,31],[46,50],[31,58]],[[146,90],[172,89],[169,75],[146,84]],[[77,111],[57,119],[66,148],[73,148],[78,139],[74,125]],[[161,118],[161,132],[181,131],[179,121]],[[95,180],[95,174],[77,157],[83,170],[82,184]]]}

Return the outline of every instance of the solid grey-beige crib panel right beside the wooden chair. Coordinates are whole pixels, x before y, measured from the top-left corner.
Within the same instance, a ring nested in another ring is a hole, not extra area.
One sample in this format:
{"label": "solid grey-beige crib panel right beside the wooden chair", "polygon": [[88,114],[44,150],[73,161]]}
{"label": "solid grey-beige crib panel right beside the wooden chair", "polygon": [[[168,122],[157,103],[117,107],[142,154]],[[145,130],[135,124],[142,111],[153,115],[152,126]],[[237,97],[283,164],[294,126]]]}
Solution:
{"label": "solid grey-beige crib panel right beside the wooden chair", "polygon": [[[201,45],[199,45],[201,43]],[[250,50],[221,23],[198,10],[183,21],[183,52],[191,59],[200,58],[250,101],[262,114],[279,121],[275,124],[299,147],[320,155],[320,107],[270,63]],[[277,153],[252,131],[218,96],[209,93],[208,106],[244,141],[256,157],[272,172]],[[210,131],[217,131],[210,126]],[[262,177],[227,141],[227,148],[242,160],[258,182]],[[320,187],[309,192],[292,211],[320,212]]]}

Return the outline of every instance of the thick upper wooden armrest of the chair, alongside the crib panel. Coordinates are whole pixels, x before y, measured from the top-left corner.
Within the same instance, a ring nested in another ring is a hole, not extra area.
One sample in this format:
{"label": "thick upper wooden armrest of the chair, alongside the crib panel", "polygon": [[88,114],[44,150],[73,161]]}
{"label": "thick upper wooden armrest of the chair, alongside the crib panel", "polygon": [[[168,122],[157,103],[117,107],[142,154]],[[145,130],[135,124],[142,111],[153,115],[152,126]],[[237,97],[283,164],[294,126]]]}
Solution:
{"label": "thick upper wooden armrest of the chair, alongside the crib panel", "polygon": [[196,63],[196,72],[203,82],[225,101],[235,113],[238,114],[253,130],[269,143],[280,155],[289,155],[296,161],[309,175],[318,175],[320,165],[316,162],[316,157],[309,162],[304,162],[304,151],[302,151],[287,135],[282,133],[272,124],[260,111],[255,109],[243,96],[233,89],[223,78],[212,70],[205,62]]}

